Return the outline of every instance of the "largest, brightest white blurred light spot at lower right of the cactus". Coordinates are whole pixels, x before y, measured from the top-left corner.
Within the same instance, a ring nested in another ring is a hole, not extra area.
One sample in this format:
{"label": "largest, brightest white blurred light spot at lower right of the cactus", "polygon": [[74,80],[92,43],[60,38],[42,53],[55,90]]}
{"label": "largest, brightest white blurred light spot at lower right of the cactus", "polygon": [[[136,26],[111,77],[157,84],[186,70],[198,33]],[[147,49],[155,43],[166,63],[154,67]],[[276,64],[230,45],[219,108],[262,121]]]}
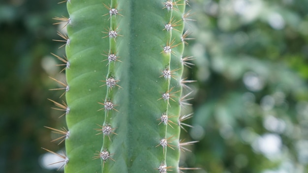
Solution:
{"label": "largest, brightest white blurred light spot at lower right of the cactus", "polygon": [[271,160],[277,160],[282,154],[282,140],[277,134],[264,134],[252,143],[252,148],[254,151],[262,153]]}

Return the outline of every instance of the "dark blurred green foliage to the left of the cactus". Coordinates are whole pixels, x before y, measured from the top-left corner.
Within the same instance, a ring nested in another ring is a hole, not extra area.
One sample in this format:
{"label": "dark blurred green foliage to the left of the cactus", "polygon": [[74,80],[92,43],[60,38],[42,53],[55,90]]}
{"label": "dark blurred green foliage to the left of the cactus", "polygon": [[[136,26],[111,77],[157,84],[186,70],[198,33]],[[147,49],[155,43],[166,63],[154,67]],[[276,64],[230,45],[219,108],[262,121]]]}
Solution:
{"label": "dark blurred green foliage to the left of the cactus", "polygon": [[39,156],[45,153],[41,146],[51,145],[50,130],[43,126],[58,123],[47,100],[55,85],[41,63],[59,47],[52,41],[58,38],[52,18],[66,13],[53,0],[0,2],[1,173],[51,173],[39,165]]}

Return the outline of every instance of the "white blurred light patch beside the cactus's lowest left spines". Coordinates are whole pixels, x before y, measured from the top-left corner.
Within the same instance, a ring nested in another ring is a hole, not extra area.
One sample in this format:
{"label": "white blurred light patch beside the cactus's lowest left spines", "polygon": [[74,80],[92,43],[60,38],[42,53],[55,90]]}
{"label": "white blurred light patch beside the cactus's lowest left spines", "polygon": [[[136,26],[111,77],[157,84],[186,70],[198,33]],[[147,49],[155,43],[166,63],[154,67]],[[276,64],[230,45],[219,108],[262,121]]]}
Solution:
{"label": "white blurred light patch beside the cactus's lowest left spines", "polygon": [[[58,151],[57,153],[61,155],[63,154],[61,151]],[[61,157],[49,152],[46,152],[45,154],[41,155],[39,163],[41,167],[46,170],[58,170],[64,164]],[[62,167],[59,171],[62,171],[63,169],[64,167]]]}

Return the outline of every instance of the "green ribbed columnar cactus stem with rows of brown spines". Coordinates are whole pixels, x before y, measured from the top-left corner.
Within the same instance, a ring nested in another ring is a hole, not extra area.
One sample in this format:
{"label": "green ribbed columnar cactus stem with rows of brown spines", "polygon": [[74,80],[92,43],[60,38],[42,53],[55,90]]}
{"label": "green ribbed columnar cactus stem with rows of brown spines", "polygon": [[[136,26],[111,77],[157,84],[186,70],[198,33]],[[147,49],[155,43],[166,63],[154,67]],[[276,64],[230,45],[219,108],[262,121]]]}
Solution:
{"label": "green ribbed columnar cactus stem with rows of brown spines", "polygon": [[[64,1],[63,1],[64,2]],[[65,173],[179,173],[186,0],[68,0]],[[184,33],[184,34],[183,34]],[[189,126],[189,125],[188,125]],[[45,148],[44,148],[45,149]],[[52,152],[48,149],[45,149]],[[53,152],[54,153],[54,152]]]}

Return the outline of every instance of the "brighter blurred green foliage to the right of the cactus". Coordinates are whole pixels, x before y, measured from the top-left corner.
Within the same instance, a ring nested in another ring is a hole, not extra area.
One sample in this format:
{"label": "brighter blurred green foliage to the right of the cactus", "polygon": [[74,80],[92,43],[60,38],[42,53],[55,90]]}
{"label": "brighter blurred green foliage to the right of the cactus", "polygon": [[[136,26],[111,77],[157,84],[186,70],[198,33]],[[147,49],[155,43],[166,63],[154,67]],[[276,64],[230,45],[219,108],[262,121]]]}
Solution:
{"label": "brighter blurred green foliage to the right of the cactus", "polygon": [[[194,0],[189,166],[306,173],[308,1]],[[198,172],[198,171],[196,171]]]}

